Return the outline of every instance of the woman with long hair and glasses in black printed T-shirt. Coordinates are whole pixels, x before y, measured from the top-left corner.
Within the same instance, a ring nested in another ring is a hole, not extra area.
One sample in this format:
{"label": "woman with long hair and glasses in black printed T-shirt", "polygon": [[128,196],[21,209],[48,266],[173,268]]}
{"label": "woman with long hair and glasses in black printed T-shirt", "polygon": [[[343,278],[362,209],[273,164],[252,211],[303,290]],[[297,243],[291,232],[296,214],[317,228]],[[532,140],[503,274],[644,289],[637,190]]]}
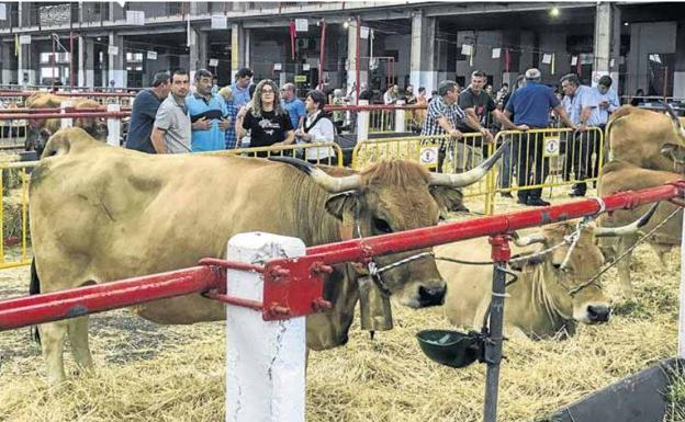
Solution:
{"label": "woman with long hair and glasses in black printed T-shirt", "polygon": [[[291,145],[295,140],[288,111],[281,106],[279,89],[270,79],[265,79],[255,88],[252,101],[240,111],[244,115],[242,129],[250,130],[250,147]],[[238,139],[243,137],[243,132]],[[268,153],[258,152],[258,157]]]}

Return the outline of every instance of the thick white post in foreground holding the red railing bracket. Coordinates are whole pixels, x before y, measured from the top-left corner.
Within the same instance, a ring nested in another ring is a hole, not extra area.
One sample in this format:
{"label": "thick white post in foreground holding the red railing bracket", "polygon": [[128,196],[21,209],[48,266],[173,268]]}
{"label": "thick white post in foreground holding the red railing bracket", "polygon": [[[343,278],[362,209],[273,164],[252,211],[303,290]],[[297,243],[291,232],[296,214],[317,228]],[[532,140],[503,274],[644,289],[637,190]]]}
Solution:
{"label": "thick white post in foreground holding the red railing bracket", "polygon": [[[305,253],[300,239],[252,232],[231,238],[227,259],[263,264]],[[226,280],[228,296],[262,301],[261,274],[228,270]],[[305,353],[305,317],[265,321],[260,311],[227,306],[226,422],[304,422]]]}

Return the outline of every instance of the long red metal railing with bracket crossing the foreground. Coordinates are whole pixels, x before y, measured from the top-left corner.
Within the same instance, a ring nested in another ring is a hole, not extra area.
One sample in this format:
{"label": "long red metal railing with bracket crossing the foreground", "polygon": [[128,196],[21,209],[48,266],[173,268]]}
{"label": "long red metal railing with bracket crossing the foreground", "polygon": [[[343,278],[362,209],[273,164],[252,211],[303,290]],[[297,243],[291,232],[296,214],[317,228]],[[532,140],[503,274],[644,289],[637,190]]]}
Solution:
{"label": "long red metal railing with bracket crossing the foreground", "polygon": [[222,295],[226,283],[223,269],[255,267],[209,260],[200,267],[0,301],[0,331],[207,290],[214,290],[214,297],[236,305],[251,308],[261,305],[263,318],[267,320],[306,315],[329,305],[322,300],[321,295],[322,276],[330,271],[328,265],[332,264],[368,262],[374,255],[429,248],[481,236],[509,233],[600,212],[632,209],[656,201],[683,197],[685,181],[678,181],[637,192],[621,192],[603,199],[584,199],[307,248],[305,256],[271,260],[263,269],[257,269],[265,274],[263,303],[269,304],[268,309],[261,304],[240,304],[240,299]]}

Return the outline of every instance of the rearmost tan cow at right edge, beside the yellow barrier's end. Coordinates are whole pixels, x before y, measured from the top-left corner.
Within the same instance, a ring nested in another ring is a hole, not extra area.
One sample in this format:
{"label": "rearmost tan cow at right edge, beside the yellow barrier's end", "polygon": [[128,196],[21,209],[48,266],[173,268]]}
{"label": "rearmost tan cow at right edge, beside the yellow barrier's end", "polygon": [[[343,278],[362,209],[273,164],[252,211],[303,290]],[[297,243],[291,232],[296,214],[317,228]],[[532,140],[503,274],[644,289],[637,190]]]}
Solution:
{"label": "rearmost tan cow at right edge, beside the yellow barrier's end", "polygon": [[670,106],[667,114],[625,105],[607,124],[607,142],[611,160],[630,162],[643,169],[685,170],[685,118],[678,118]]}

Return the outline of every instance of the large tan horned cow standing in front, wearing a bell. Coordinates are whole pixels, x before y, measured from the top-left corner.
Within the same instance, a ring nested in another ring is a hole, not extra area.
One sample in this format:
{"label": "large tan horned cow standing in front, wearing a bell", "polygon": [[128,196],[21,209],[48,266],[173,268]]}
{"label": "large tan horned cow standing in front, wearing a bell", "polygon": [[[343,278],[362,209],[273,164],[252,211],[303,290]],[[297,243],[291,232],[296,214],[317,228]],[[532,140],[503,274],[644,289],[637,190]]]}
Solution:
{"label": "large tan horned cow standing in front, wearing a bell", "polygon": [[[460,186],[476,182],[502,153],[463,174],[431,174],[408,161],[363,171],[240,157],[150,156],[114,148],[79,128],[50,137],[30,190],[35,274],[32,292],[56,292],[193,266],[224,256],[228,238],[265,231],[315,246],[433,226],[440,210],[461,205]],[[345,233],[348,233],[345,236]],[[418,252],[418,251],[417,251]],[[416,252],[378,258],[386,265]],[[38,280],[40,278],[40,280]],[[379,288],[412,308],[440,305],[445,282],[431,258],[382,274]],[[307,318],[307,345],[347,342],[358,300],[352,265],[325,284],[334,308]],[[223,304],[200,294],[137,306],[158,323],[225,318]],[[88,317],[40,326],[50,383],[65,378],[69,335],[77,365],[92,367]]]}

